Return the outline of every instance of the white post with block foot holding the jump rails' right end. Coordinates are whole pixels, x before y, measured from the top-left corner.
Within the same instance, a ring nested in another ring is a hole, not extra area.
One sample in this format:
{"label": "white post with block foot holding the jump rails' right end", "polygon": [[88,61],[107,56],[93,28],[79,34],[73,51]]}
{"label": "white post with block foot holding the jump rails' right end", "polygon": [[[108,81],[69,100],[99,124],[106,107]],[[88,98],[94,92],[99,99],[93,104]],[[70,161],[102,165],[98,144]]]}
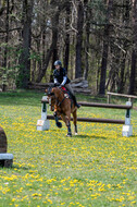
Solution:
{"label": "white post with block foot holding the jump rails' right end", "polygon": [[[127,101],[126,105],[132,106],[132,102]],[[133,135],[133,125],[130,124],[130,109],[126,110],[125,125],[123,125],[122,135],[127,137]]]}

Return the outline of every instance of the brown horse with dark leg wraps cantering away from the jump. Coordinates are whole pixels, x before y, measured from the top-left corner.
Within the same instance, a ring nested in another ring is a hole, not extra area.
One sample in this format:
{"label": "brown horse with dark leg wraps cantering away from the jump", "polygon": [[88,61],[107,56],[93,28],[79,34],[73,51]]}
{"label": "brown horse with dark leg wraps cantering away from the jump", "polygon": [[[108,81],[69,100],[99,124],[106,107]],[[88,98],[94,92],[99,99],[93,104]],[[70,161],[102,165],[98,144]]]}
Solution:
{"label": "brown horse with dark leg wraps cantering away from the jump", "polygon": [[[64,92],[65,90],[65,92]],[[50,86],[46,90],[48,95],[48,101],[50,105],[50,110],[54,111],[54,120],[58,127],[62,127],[62,123],[59,122],[59,117],[64,121],[67,127],[66,136],[72,136],[71,130],[71,113],[73,114],[73,123],[75,135],[77,135],[77,107],[74,105],[70,98],[66,89],[64,87]]]}

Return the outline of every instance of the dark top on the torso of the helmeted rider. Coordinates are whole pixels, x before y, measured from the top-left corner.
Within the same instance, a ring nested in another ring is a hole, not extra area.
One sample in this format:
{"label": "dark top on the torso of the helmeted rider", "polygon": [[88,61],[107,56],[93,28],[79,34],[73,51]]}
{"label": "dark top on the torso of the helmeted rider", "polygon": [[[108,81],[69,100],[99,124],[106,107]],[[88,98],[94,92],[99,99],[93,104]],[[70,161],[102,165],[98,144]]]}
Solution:
{"label": "dark top on the torso of the helmeted rider", "polygon": [[66,80],[65,84],[68,84],[71,82],[67,77],[66,70],[64,68],[61,68],[60,70],[55,69],[53,71],[53,78],[54,82],[57,81],[60,84],[62,84],[64,80]]}

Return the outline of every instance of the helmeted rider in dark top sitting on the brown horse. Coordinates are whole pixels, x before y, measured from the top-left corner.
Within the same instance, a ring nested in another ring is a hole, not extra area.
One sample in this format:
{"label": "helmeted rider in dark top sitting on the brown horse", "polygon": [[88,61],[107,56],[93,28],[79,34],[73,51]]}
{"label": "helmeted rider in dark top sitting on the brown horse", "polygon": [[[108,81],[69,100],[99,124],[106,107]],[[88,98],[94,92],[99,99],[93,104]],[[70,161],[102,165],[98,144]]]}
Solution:
{"label": "helmeted rider in dark top sitting on the brown horse", "polygon": [[80,106],[77,104],[74,92],[70,85],[71,81],[67,77],[66,70],[62,68],[62,62],[60,60],[57,60],[54,62],[54,66],[55,66],[55,70],[53,71],[54,84],[60,84],[60,86],[65,86],[65,88],[71,93],[75,106],[79,108]]}

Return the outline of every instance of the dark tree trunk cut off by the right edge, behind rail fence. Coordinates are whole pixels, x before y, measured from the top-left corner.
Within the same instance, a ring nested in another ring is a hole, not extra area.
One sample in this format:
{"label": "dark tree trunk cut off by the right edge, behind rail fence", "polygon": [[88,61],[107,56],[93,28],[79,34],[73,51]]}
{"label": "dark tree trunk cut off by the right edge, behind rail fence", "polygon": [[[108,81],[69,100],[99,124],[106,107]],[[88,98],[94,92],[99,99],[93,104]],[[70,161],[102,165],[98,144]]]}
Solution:
{"label": "dark tree trunk cut off by the right edge, behind rail fence", "polygon": [[135,94],[137,78],[137,0],[133,0],[133,52],[128,94]]}

